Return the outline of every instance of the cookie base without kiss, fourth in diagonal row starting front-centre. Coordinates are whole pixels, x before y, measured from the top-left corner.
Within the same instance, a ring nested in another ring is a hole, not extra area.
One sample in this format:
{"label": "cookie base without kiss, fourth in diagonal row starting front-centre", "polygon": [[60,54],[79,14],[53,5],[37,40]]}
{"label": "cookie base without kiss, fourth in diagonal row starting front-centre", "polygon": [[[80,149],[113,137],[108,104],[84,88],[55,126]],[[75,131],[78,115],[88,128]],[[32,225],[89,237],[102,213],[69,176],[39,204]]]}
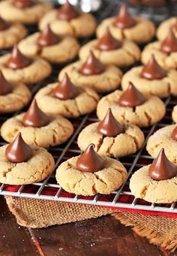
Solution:
{"label": "cookie base without kiss, fourth in diagonal row starting front-centre", "polygon": [[124,74],[121,86],[125,90],[129,82],[132,82],[139,92],[149,97],[156,95],[160,98],[166,98],[169,95],[177,95],[177,71],[170,69],[166,72],[166,76],[161,79],[148,80],[140,76],[143,66],[131,68]]}

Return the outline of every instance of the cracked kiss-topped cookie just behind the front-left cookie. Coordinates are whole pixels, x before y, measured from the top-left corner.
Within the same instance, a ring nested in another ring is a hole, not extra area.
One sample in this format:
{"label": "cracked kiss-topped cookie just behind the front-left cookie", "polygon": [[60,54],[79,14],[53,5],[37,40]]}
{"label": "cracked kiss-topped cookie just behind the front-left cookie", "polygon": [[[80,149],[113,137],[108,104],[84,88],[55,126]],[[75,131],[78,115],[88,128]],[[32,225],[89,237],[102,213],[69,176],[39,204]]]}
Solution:
{"label": "cracked kiss-topped cookie just behind the front-left cookie", "polygon": [[[34,106],[34,103],[31,104],[30,108],[33,109],[31,112],[36,112],[36,106]],[[30,108],[28,112],[30,111]],[[3,137],[7,142],[11,142],[20,132],[23,139],[29,145],[43,146],[46,148],[65,143],[65,141],[68,140],[74,132],[71,122],[62,116],[48,116],[49,121],[41,126],[38,124],[36,125],[35,123],[31,124],[29,121],[28,123],[24,122],[25,116],[26,113],[22,113],[7,119],[7,121],[5,121],[1,126],[1,137]],[[33,116],[33,120],[40,119],[39,116],[40,115],[37,113],[35,117]]]}

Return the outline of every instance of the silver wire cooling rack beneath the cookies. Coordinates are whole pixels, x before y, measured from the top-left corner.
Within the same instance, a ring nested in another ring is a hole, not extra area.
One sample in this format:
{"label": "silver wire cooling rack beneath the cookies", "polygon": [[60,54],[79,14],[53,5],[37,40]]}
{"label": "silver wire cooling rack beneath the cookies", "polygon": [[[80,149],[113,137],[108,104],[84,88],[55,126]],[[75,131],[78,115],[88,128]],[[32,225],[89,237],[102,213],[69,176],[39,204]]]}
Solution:
{"label": "silver wire cooling rack beneath the cookies", "polygon": [[[101,11],[96,14],[98,22],[101,21],[104,17],[115,14],[115,12],[117,11],[117,2],[105,0]],[[32,27],[30,28],[30,32],[34,32],[36,29],[37,28]],[[1,51],[0,55],[3,53],[6,53],[6,51]],[[37,85],[35,85],[32,89],[32,94],[34,95],[38,91],[38,89],[45,86],[47,83],[52,83],[56,81],[58,71],[61,68],[61,66],[53,67],[52,75],[45,81],[43,81],[43,83],[38,83]],[[158,128],[162,128],[172,123],[171,113],[172,108],[175,106],[175,104],[177,104],[177,98],[167,98],[165,104],[166,116],[164,116],[164,118],[160,122],[151,126],[150,128],[142,129],[145,134],[145,143],[148,140],[148,137],[150,137],[151,134],[154,133],[154,131],[157,131]],[[15,115],[17,115],[18,113],[15,113]],[[10,117],[10,115],[1,115],[0,122],[5,122],[5,120]],[[139,210],[148,210],[153,212],[177,213],[177,203],[148,203],[145,200],[133,197],[130,192],[129,181],[132,174],[144,165],[150,164],[153,160],[145,150],[145,143],[143,144],[142,149],[140,149],[139,152],[137,152],[136,154],[118,159],[121,161],[122,164],[124,164],[124,167],[126,167],[128,175],[126,181],[121,186],[121,188],[109,195],[97,194],[93,197],[84,197],[68,193],[64,191],[60,185],[57,184],[55,180],[56,168],[59,164],[62,163],[62,161],[66,161],[68,158],[80,155],[81,152],[77,146],[78,134],[80,134],[80,131],[82,131],[82,129],[85,128],[86,125],[97,121],[98,119],[95,113],[77,119],[72,119],[71,122],[74,125],[74,134],[71,137],[71,140],[68,140],[67,143],[64,143],[60,146],[50,147],[48,149],[48,151],[53,155],[55,159],[55,169],[53,170],[53,173],[43,182],[37,182],[31,185],[5,185],[0,183],[0,195],[28,197],[43,200],[56,200],[70,203],[86,203],[98,206],[116,207],[118,209],[135,210],[137,212],[139,212]],[[3,145],[5,145],[5,141],[0,139],[0,146]]]}

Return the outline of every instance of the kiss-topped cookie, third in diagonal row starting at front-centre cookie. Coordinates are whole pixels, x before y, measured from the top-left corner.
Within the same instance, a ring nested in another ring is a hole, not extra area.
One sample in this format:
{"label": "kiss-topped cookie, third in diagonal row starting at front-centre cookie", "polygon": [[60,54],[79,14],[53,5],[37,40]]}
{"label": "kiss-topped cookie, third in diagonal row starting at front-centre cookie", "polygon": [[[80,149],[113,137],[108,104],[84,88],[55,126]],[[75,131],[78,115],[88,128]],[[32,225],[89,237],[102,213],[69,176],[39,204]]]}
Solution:
{"label": "kiss-topped cookie, third in diagonal row starting at front-centre cookie", "polygon": [[[135,87],[134,87],[135,89]],[[133,89],[133,90],[134,90]],[[129,86],[126,93],[132,90]],[[101,98],[98,102],[97,107],[97,115],[98,119],[104,119],[104,116],[107,113],[107,110],[110,108],[113,112],[113,116],[118,120],[121,124],[126,124],[127,122],[132,123],[133,125],[137,125],[139,127],[147,127],[149,125],[153,125],[155,122],[160,121],[166,113],[165,105],[160,98],[157,96],[151,96],[150,98],[145,98],[144,101],[140,102],[139,105],[133,105],[133,107],[129,107],[127,104],[121,106],[118,101],[120,101],[122,95],[125,92],[115,90],[115,92],[110,93],[107,96]],[[132,97],[132,93],[130,94],[130,98],[136,98],[136,92]],[[125,99],[124,102],[128,103]]]}

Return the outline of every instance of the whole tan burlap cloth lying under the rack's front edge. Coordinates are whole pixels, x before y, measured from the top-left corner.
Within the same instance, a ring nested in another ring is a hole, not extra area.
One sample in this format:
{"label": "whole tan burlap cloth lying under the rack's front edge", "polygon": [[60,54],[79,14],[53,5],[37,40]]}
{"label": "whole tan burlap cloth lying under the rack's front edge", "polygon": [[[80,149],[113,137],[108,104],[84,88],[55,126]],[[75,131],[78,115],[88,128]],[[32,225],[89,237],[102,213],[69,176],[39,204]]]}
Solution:
{"label": "whole tan burlap cloth lying under the rack's front edge", "polygon": [[97,218],[111,214],[126,226],[169,251],[177,248],[177,218],[157,215],[142,215],[133,212],[121,212],[100,206],[79,203],[61,203],[49,200],[36,200],[20,197],[5,197],[10,211],[18,224],[25,227],[48,227],[55,224]]}

